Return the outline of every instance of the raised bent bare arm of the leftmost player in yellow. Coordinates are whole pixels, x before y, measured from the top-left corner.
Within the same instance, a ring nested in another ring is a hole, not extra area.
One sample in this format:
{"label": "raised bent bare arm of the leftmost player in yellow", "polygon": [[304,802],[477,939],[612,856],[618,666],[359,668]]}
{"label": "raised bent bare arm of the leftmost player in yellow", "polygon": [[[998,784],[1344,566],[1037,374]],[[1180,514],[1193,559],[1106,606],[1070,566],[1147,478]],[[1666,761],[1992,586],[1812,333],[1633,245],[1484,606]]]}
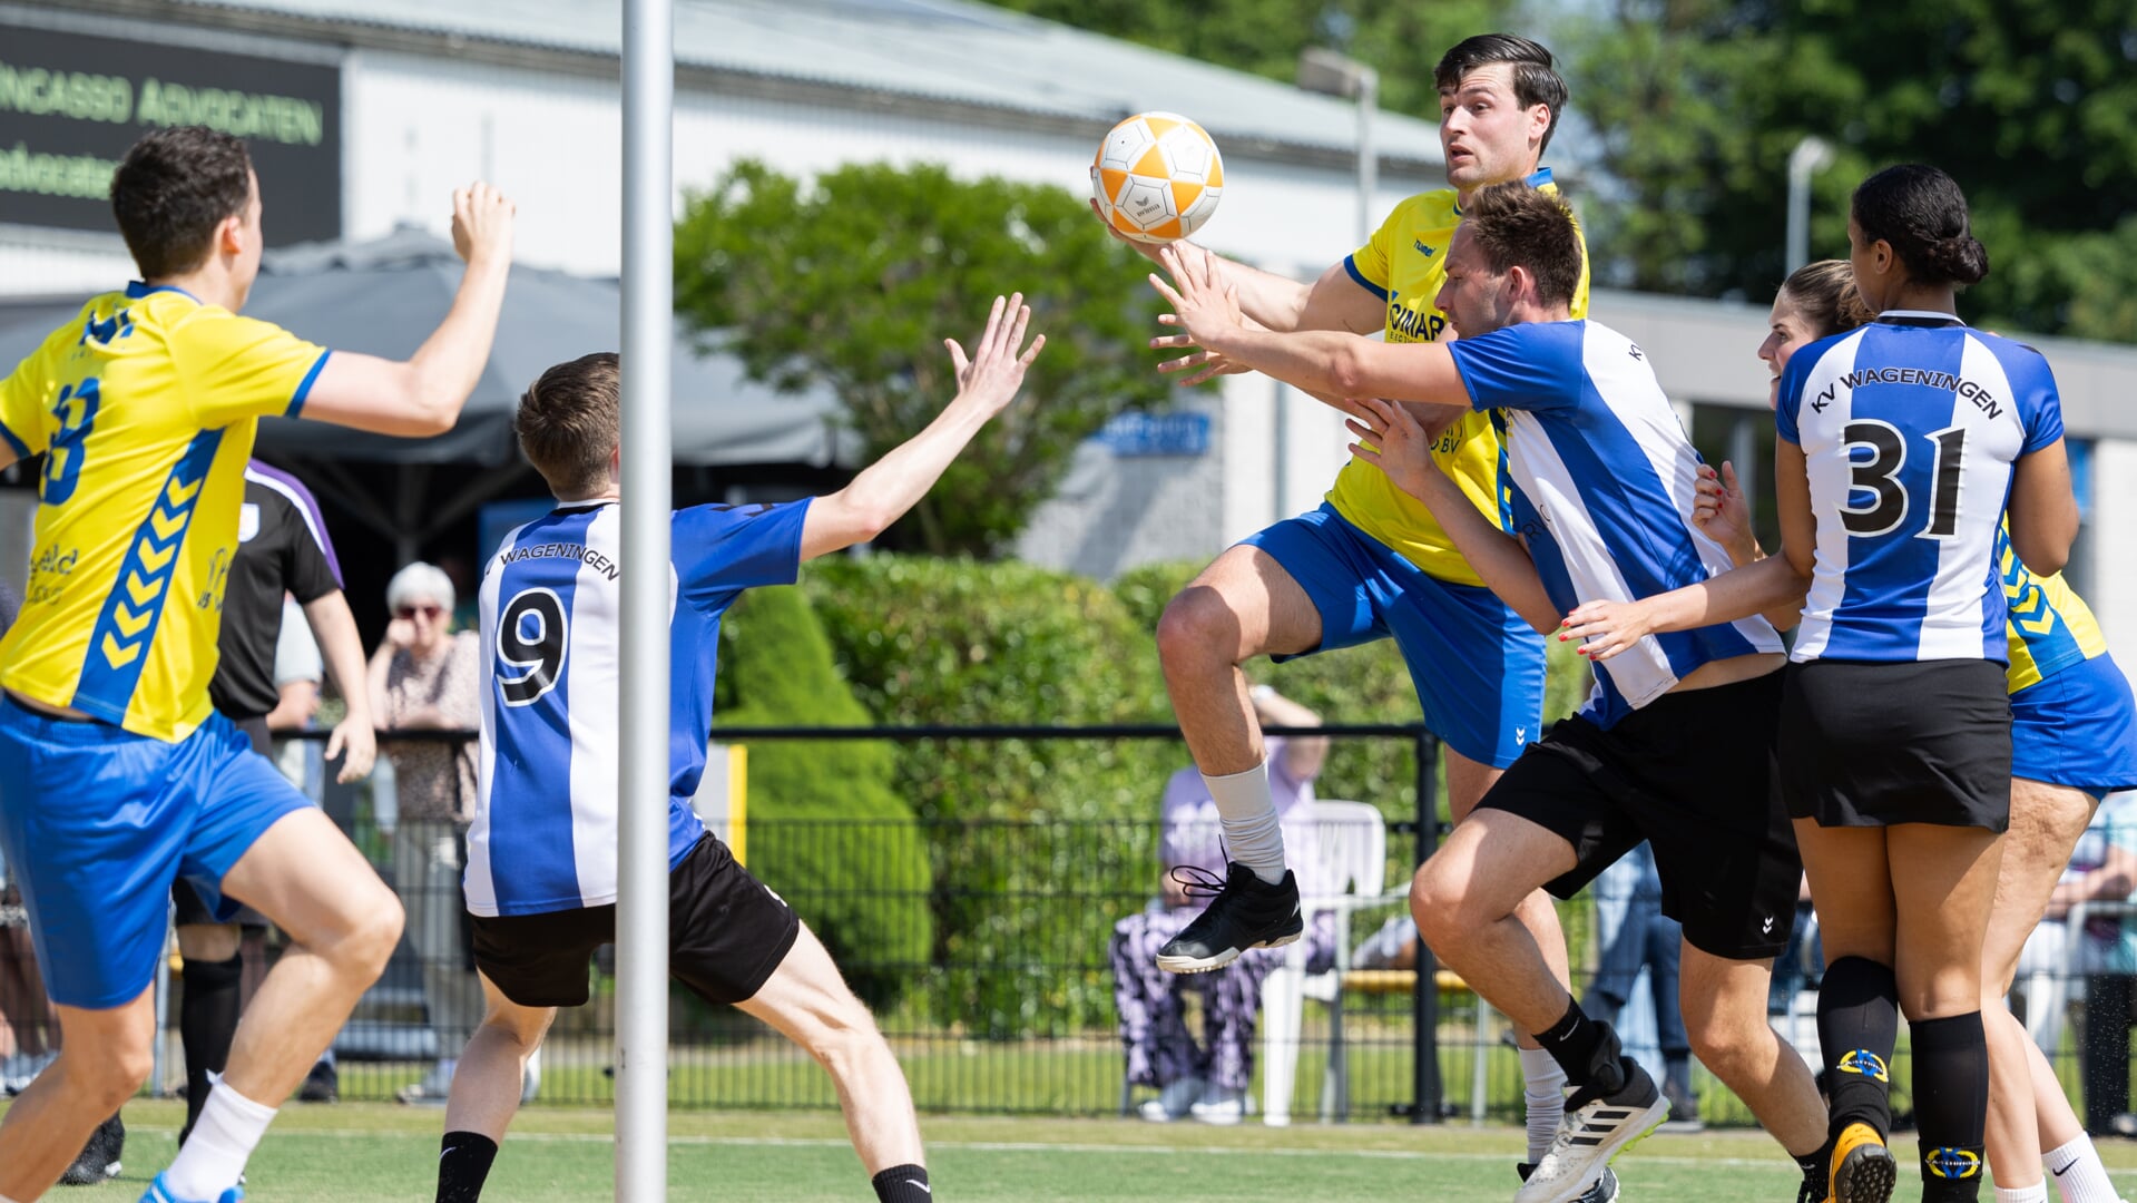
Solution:
{"label": "raised bent bare arm of the leftmost player in yellow", "polygon": [[489,363],[513,267],[513,203],[489,184],[453,192],[453,250],[468,261],[453,308],[406,361],[338,350],[301,417],[374,434],[444,434]]}

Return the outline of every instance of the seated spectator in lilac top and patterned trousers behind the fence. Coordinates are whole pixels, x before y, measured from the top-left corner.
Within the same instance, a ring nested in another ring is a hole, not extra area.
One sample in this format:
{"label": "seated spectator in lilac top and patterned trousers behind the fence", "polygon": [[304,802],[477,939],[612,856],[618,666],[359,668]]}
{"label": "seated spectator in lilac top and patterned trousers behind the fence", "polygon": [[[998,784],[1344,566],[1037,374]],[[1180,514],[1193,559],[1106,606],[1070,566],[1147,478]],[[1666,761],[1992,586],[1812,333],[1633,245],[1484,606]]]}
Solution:
{"label": "seated spectator in lilac top and patterned trousers behind the fence", "polygon": [[[1321,716],[1254,686],[1254,714],[1269,727],[1319,727]],[[1284,829],[1284,846],[1299,876],[1299,891],[1312,895],[1323,882],[1308,880],[1314,865],[1314,778],[1327,761],[1327,737],[1267,739],[1269,791]],[[1216,801],[1195,767],[1180,769],[1165,786],[1158,859],[1158,897],[1113,925],[1107,955],[1113,962],[1113,1000],[1120,1006],[1120,1043],[1128,1049],[1128,1081],[1154,1085],[1158,1096],[1141,1115],[1154,1122],[1195,1115],[1207,1124],[1237,1124],[1246,1113],[1246,1083],[1254,1073],[1254,1019],[1261,983],[1284,964],[1284,949],[1248,949],[1239,959],[1199,974],[1158,968],[1158,949],[1197,915],[1203,897],[1216,893],[1225,874]],[[1327,915],[1308,927],[1310,970],[1333,959]],[[1186,991],[1203,996],[1201,1043],[1186,1026]]]}

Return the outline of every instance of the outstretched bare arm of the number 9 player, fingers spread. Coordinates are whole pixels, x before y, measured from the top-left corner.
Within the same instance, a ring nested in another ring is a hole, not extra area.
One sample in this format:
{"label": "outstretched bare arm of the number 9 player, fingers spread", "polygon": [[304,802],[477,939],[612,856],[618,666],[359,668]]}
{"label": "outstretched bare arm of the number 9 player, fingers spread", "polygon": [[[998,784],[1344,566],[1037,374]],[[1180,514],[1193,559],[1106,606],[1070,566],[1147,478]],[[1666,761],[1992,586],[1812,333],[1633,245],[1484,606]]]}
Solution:
{"label": "outstretched bare arm of the number 9 player, fingers spread", "polygon": [[996,297],[987,329],[972,344],[970,359],[955,340],[942,340],[957,370],[957,395],[927,423],[927,429],[863,468],[844,489],[808,506],[808,517],[801,519],[801,560],[883,534],[927,496],[964,444],[972,442],[994,415],[1009,408],[1024,387],[1024,370],[1047,344],[1047,335],[1041,333],[1019,350],[1030,321],[1032,310],[1024,303],[1024,293],[1009,301]]}

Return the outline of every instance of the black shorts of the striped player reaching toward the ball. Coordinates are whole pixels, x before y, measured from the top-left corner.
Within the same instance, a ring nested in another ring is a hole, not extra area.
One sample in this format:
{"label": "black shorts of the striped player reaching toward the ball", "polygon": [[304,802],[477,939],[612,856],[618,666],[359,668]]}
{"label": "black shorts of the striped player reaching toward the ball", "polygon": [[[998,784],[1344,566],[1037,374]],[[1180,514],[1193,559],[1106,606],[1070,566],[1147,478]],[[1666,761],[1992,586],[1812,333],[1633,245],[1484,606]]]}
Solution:
{"label": "black shorts of the striped player reaching toward the ball", "polygon": [[1545,885],[1558,897],[1645,840],[1663,915],[1695,949],[1767,959],[1789,947],[1804,874],[1774,788],[1778,718],[1780,673],[1663,694],[1609,731],[1566,718],[1479,806],[1573,844],[1579,863]]}

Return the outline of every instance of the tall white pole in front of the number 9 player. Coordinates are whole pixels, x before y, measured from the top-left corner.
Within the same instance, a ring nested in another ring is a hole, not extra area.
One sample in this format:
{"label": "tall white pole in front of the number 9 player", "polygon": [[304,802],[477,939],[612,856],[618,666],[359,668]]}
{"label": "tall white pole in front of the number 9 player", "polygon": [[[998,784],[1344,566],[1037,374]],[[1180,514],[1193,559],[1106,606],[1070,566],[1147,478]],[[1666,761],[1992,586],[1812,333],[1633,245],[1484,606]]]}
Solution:
{"label": "tall white pole in front of the number 9 player", "polygon": [[675,11],[624,0],[624,679],[615,897],[615,1197],[667,1199],[669,355]]}

